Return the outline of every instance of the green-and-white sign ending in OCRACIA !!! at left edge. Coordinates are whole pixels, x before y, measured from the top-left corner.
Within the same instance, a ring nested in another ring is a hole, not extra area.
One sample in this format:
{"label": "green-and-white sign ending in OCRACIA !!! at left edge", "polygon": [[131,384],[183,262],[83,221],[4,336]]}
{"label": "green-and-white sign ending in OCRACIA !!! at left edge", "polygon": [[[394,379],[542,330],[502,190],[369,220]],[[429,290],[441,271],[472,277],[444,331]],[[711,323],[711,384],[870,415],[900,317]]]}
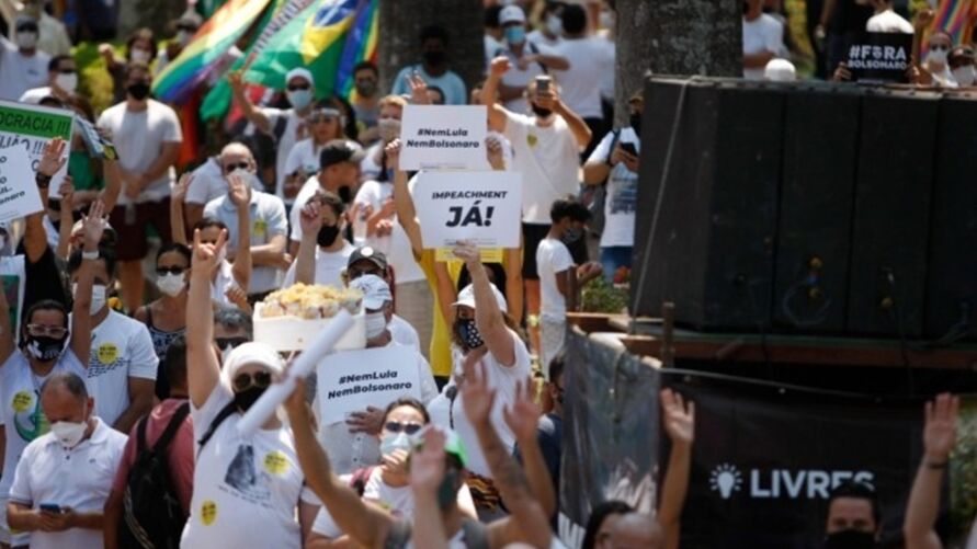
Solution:
{"label": "green-and-white sign ending in OCRACIA !!! at left edge", "polygon": [[[44,146],[55,137],[71,142],[73,113],[41,105],[0,101],[0,149],[21,147],[30,160],[32,184]],[[50,196],[57,196],[58,186],[68,173],[68,163],[55,173],[50,181]]]}

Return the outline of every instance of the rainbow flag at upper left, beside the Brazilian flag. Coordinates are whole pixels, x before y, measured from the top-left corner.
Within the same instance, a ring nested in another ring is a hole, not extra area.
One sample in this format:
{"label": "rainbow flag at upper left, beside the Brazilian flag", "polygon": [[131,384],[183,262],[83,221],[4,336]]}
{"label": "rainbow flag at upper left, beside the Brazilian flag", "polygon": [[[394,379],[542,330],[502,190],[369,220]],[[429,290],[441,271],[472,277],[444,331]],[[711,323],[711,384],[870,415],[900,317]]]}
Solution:
{"label": "rainbow flag at upper left, beside the Brazilian flag", "polygon": [[216,61],[265,11],[271,0],[229,0],[208,19],[183,52],[155,79],[152,93],[167,103],[183,103]]}

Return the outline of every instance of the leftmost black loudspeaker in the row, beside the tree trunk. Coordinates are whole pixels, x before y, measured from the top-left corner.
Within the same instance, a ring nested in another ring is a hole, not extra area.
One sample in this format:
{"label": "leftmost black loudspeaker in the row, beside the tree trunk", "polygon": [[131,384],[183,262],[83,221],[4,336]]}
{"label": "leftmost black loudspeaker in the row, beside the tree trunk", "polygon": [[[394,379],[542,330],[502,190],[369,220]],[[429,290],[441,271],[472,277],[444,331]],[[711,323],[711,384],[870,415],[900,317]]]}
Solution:
{"label": "leftmost black loudspeaker in the row, beside the tree trunk", "polygon": [[638,313],[657,316],[674,301],[677,321],[700,330],[770,324],[783,110],[783,93],[763,84],[648,80],[632,276]]}

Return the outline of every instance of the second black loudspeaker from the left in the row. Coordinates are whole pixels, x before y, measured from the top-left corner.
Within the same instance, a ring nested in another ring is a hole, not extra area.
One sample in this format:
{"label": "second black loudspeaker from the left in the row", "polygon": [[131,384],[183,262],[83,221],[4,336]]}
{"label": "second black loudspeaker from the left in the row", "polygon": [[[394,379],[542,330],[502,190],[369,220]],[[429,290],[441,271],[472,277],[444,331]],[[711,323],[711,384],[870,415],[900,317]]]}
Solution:
{"label": "second black loudspeaker from the left in the row", "polygon": [[786,94],[774,327],[841,333],[861,94],[825,84]]}

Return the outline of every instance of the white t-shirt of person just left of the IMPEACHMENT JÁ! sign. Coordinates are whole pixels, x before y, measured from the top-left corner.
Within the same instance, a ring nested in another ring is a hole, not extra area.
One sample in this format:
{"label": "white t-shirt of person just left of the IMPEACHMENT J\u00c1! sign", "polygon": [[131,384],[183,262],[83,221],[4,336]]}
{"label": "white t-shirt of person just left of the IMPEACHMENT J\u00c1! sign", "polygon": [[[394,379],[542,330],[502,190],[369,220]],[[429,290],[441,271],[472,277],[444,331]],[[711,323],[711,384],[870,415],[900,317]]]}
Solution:
{"label": "white t-shirt of person just left of the IMPEACHMENT J\u00c1! sign", "polygon": [[[373,211],[378,211],[387,199],[394,196],[393,183],[380,183],[378,181],[367,181],[360,186],[353,205],[361,208],[370,206]],[[371,245],[387,256],[387,262],[394,267],[394,275],[397,284],[406,284],[409,282],[418,282],[427,279],[424,272],[421,271],[413,252],[410,248],[410,239],[400,224],[397,222],[397,215],[390,216],[394,221],[394,230],[387,237],[367,237],[366,236],[366,217],[362,215],[353,219],[353,237],[357,245]]]}

